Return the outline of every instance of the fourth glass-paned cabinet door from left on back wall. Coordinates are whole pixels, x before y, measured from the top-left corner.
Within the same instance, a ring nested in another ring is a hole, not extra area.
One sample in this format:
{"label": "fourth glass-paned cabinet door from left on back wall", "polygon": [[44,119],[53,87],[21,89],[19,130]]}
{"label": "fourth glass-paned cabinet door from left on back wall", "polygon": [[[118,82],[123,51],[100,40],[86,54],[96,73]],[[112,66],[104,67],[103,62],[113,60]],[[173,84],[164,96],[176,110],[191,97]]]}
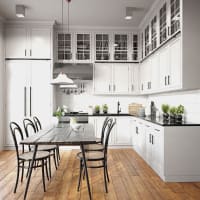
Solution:
{"label": "fourth glass-paned cabinet door from left on back wall", "polygon": [[114,60],[128,60],[128,34],[114,35]]}

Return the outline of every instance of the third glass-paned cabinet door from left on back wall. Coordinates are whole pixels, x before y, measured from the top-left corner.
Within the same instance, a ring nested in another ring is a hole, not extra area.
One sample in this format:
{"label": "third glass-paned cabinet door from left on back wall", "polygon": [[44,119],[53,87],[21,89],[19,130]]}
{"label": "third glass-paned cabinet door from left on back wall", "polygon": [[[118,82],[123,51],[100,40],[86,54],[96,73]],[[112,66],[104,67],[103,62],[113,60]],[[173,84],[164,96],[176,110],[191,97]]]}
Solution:
{"label": "third glass-paned cabinet door from left on back wall", "polygon": [[95,58],[96,60],[110,60],[110,37],[109,34],[96,34],[95,36]]}

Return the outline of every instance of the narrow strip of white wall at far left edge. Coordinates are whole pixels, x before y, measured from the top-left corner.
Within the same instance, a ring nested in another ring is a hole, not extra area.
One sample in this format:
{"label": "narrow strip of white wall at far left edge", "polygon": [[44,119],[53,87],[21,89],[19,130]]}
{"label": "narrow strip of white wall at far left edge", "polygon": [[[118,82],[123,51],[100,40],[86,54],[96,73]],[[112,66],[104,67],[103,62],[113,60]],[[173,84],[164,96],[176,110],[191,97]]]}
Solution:
{"label": "narrow strip of white wall at far left edge", "polygon": [[3,149],[3,73],[4,73],[3,24],[0,18],[0,150]]}

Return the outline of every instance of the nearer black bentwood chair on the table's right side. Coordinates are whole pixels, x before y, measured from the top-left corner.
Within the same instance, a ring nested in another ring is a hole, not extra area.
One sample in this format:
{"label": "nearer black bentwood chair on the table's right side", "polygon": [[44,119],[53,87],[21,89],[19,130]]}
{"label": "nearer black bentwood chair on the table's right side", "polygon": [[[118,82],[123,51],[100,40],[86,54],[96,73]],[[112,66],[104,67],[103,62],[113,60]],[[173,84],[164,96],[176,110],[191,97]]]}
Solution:
{"label": "nearer black bentwood chair on the table's right side", "polygon": [[[108,171],[107,171],[107,160],[108,160],[108,141],[110,137],[110,133],[116,124],[116,121],[109,120],[107,123],[107,131],[106,138],[103,151],[86,151],[85,159],[88,162],[88,168],[103,168],[104,169],[104,183],[106,193],[108,192],[107,181],[108,181]],[[80,190],[81,177],[83,172],[83,155],[82,152],[77,154],[77,158],[80,159],[80,171],[79,171],[79,180],[78,180],[78,188]]]}

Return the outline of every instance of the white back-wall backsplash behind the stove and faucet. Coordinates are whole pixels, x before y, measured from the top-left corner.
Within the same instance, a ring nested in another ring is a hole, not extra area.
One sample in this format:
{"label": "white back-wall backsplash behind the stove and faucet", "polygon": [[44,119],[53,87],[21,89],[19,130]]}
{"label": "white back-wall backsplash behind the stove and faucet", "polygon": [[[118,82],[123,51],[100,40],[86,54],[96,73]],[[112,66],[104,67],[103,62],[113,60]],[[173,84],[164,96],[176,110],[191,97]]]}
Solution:
{"label": "white back-wall backsplash behind the stove and faucet", "polygon": [[86,84],[86,91],[80,95],[66,95],[60,89],[56,89],[56,104],[57,106],[66,105],[70,110],[83,110],[88,111],[88,106],[107,104],[109,107],[108,112],[117,112],[117,101],[120,101],[120,107],[122,113],[128,112],[128,104],[136,102],[146,104],[145,97],[134,97],[134,96],[95,96],[92,95],[92,81]]}

